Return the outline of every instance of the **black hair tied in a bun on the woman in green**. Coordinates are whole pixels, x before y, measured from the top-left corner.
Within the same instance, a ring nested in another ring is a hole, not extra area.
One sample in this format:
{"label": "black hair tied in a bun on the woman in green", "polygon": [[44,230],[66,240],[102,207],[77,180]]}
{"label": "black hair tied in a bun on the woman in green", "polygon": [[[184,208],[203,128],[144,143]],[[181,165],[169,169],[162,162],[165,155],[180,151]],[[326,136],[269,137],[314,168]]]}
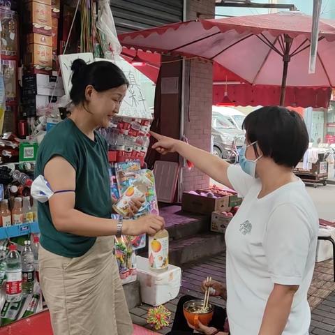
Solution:
{"label": "black hair tied in a bun on the woman in green", "polygon": [[110,61],[94,61],[86,64],[83,59],[75,59],[71,66],[72,88],[70,98],[75,105],[83,103],[85,99],[85,89],[92,85],[98,92],[114,89],[121,85],[129,85],[126,75],[121,68]]}

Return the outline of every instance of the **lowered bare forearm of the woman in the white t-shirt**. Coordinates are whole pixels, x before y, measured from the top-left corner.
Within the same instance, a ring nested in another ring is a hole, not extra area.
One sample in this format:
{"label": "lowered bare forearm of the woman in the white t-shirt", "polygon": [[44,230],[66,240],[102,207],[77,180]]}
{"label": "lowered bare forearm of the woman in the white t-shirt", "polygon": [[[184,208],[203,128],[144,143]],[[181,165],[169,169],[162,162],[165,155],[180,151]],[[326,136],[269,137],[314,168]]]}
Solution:
{"label": "lowered bare forearm of the woman in the white t-shirt", "polygon": [[278,286],[282,288],[274,288],[267,300],[259,335],[281,335],[288,322],[296,290]]}

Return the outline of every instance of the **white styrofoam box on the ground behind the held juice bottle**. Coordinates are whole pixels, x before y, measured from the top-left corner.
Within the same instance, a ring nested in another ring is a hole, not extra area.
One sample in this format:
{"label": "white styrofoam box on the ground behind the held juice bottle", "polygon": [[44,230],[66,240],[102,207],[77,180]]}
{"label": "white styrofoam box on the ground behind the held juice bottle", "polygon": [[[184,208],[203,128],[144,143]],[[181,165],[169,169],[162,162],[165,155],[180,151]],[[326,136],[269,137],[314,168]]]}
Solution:
{"label": "white styrofoam box on the ground behind the held juice bottle", "polygon": [[137,256],[137,280],[141,285],[142,302],[151,306],[165,304],[179,294],[181,286],[181,269],[169,265],[167,271],[152,271],[149,260]]}

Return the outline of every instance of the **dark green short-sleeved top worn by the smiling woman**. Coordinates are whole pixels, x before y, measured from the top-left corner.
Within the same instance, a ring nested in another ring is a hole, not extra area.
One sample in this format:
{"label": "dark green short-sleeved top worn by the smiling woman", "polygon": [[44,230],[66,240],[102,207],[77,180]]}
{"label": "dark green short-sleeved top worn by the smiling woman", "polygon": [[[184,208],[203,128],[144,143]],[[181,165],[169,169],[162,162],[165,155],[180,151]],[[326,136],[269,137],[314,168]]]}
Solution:
{"label": "dark green short-sleeved top worn by the smiling woman", "polygon": [[[75,209],[98,218],[110,218],[110,176],[107,141],[98,133],[92,141],[71,119],[61,121],[45,135],[38,149],[35,177],[44,175],[44,168],[54,156],[61,156],[76,172]],[[60,191],[60,190],[57,190]],[[40,244],[47,251],[64,257],[80,257],[94,245],[95,237],[82,237],[54,228],[49,202],[38,203]]]}

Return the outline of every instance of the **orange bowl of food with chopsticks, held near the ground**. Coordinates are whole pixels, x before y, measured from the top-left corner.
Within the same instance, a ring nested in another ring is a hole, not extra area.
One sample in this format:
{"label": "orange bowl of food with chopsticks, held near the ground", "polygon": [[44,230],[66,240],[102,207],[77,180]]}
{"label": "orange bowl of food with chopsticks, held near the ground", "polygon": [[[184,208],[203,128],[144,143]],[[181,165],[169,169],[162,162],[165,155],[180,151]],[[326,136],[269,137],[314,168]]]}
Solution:
{"label": "orange bowl of food with chopsticks, held near the ground", "polygon": [[213,318],[214,308],[208,304],[208,311],[204,313],[197,313],[202,308],[203,300],[186,301],[183,305],[184,316],[188,323],[195,328],[199,327],[199,321],[202,325],[208,326]]}

